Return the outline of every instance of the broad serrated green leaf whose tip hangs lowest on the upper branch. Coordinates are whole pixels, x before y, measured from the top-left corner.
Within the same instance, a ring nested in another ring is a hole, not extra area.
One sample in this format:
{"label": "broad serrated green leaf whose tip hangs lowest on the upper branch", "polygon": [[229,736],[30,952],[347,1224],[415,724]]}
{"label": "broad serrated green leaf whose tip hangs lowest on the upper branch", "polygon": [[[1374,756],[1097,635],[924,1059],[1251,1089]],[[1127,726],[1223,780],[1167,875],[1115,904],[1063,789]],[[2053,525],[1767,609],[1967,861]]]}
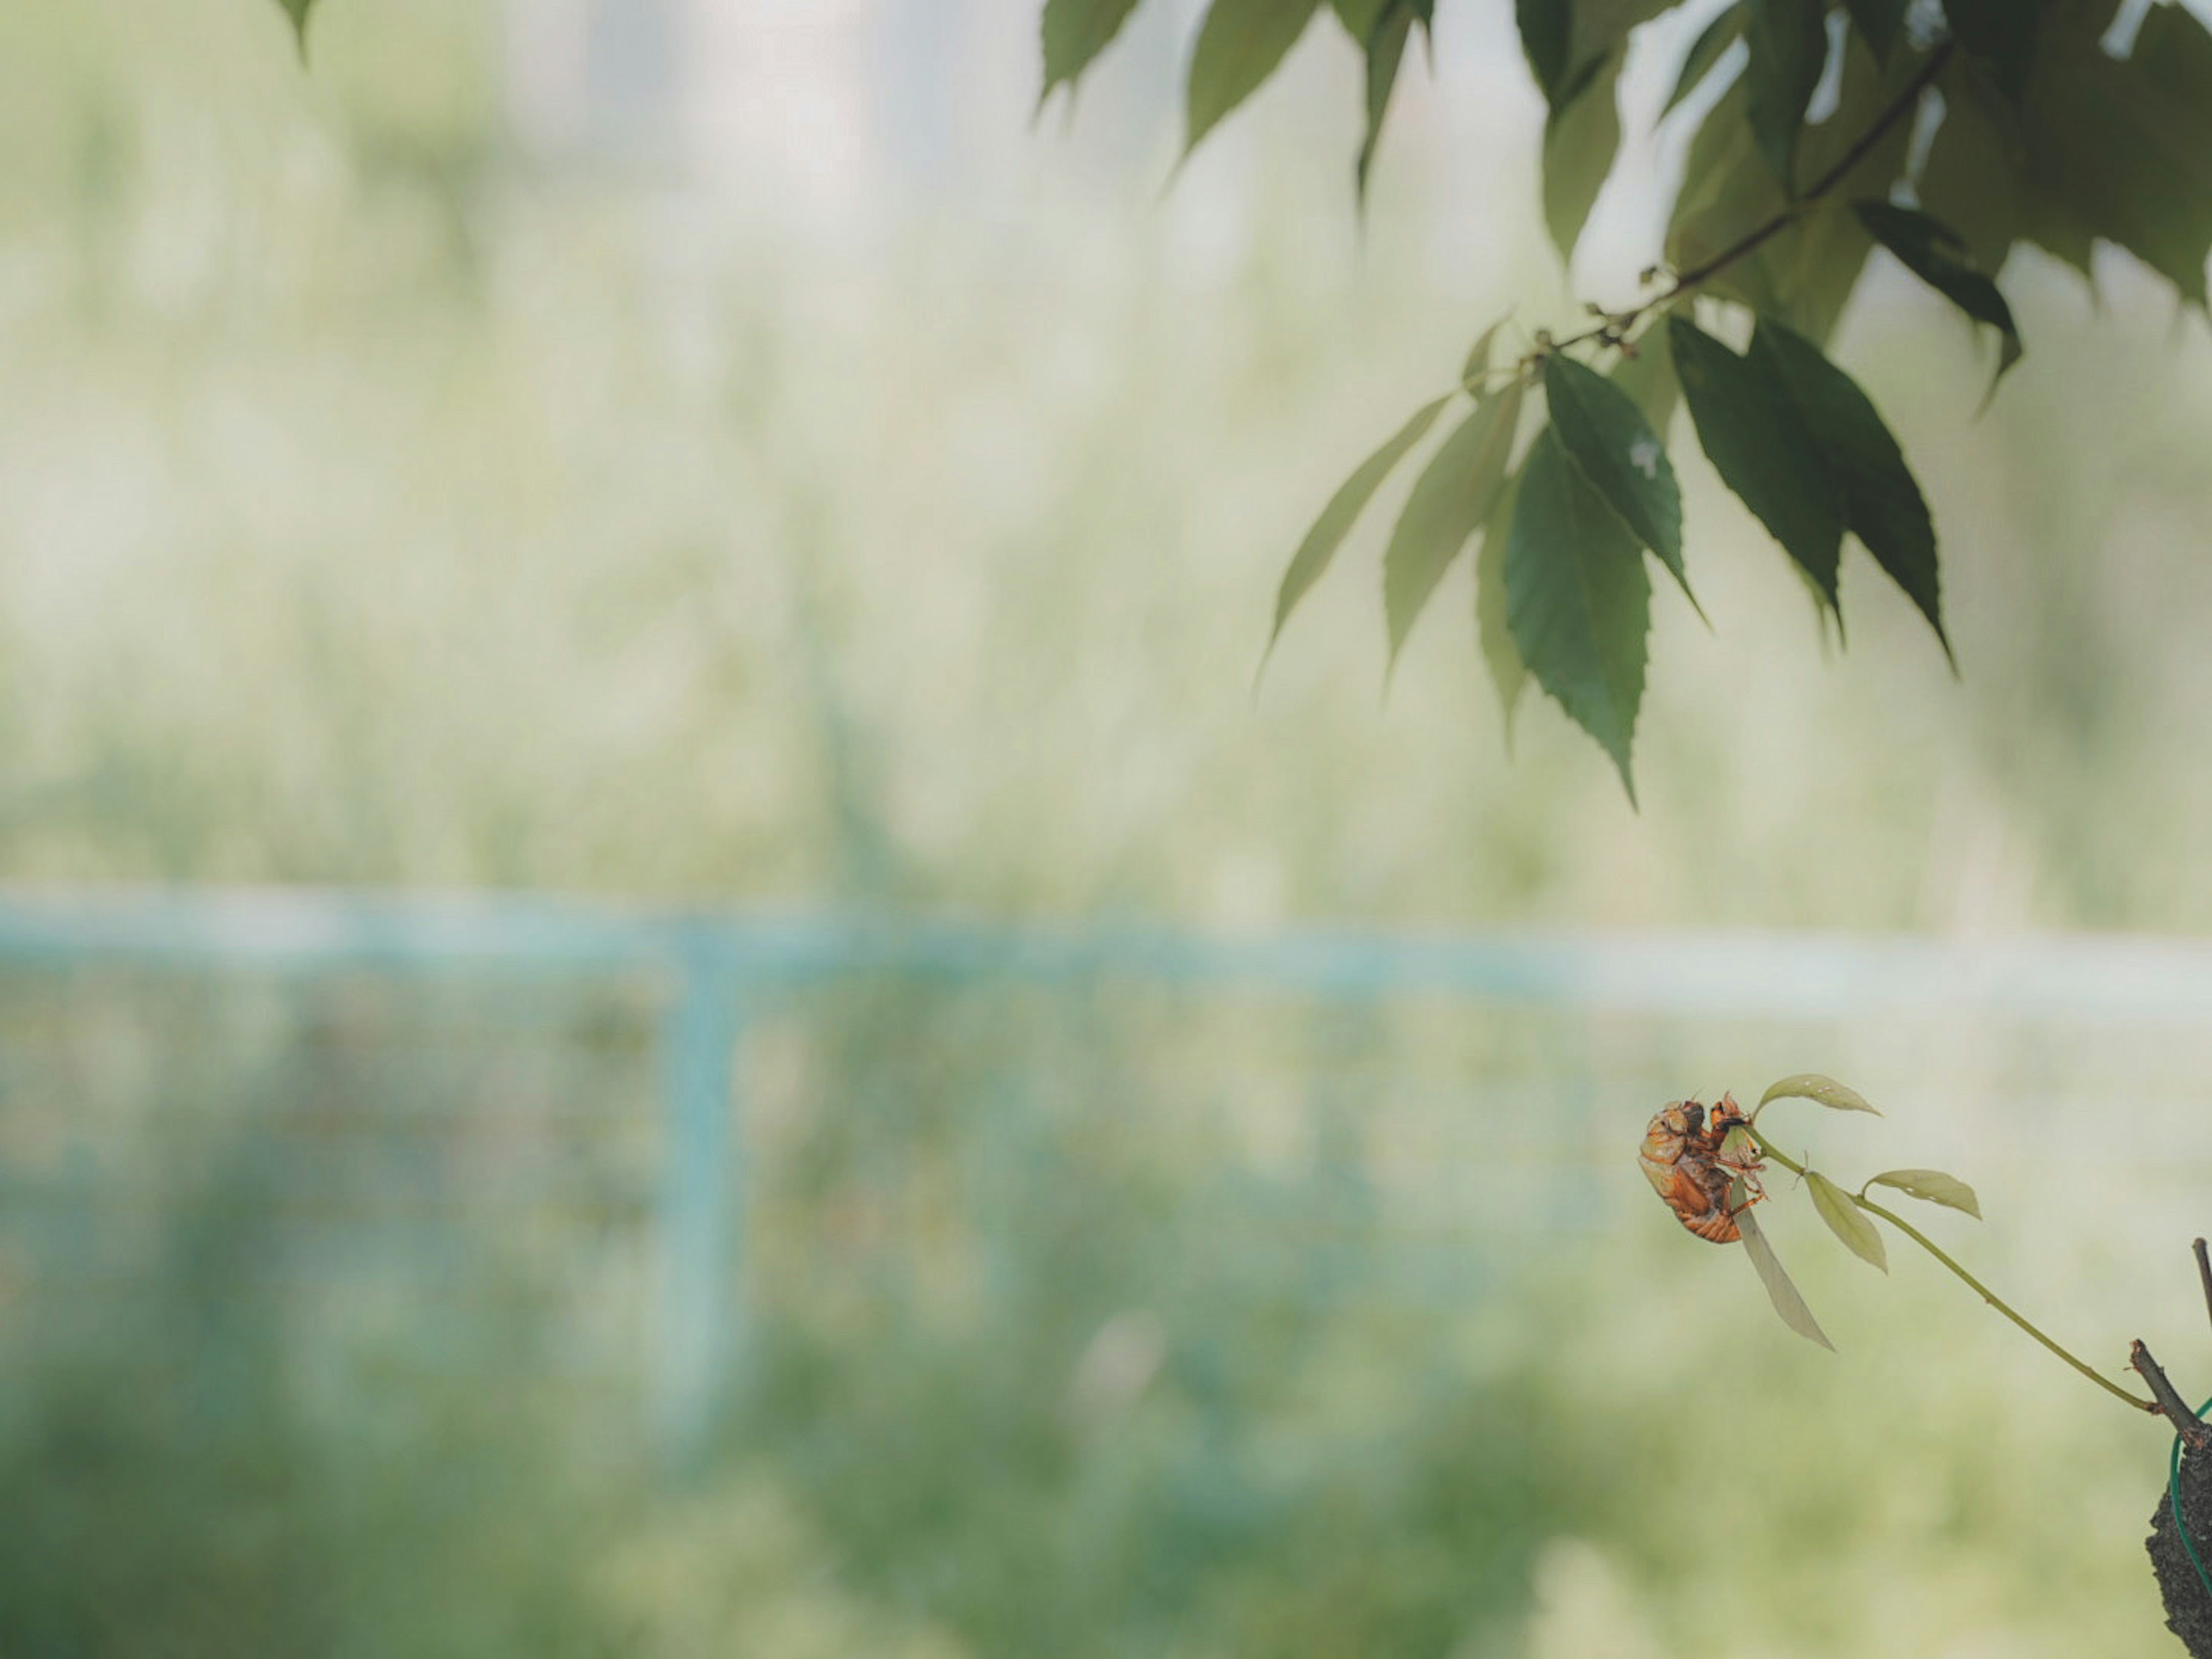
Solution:
{"label": "broad serrated green leaf whose tip hangs lowest on the upper branch", "polygon": [[1650,597],[1635,535],[1546,427],[1513,504],[1506,624],[1537,686],[1613,757],[1630,803]]}

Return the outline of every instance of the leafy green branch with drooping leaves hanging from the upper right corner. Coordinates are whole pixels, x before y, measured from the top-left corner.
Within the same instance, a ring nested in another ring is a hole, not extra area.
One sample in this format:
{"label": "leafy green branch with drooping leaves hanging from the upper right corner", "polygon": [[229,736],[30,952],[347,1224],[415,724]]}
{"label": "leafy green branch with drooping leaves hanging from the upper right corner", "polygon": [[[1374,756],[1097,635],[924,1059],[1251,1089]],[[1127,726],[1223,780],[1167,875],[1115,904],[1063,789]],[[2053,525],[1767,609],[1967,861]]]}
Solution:
{"label": "leafy green branch with drooping leaves hanging from the upper right corner", "polygon": [[[1137,4],[1046,0],[1046,95],[1073,86]],[[1546,104],[1544,221],[1562,257],[1621,144],[1630,38],[1677,4],[1515,0]],[[1323,11],[1367,64],[1354,173],[1365,192],[1433,0],[1212,0],[1190,53],[1186,146],[1265,84]],[[1533,679],[1613,757],[1632,799],[1646,557],[1690,595],[1668,460],[1686,405],[1708,460],[1838,637],[1849,538],[1949,655],[1927,500],[1827,343],[1876,248],[1995,334],[1997,378],[2022,356],[1995,283],[2015,243],[2084,274],[2093,248],[2115,243],[2205,305],[2212,33],[2161,2],[2121,42],[2119,15],[2121,0],[1734,0],[1694,35],[1659,117],[1705,106],[1650,296],[1593,312],[1566,338],[1535,332],[1495,367],[1498,330],[1486,330],[1458,389],[1413,414],[1327,502],[1283,575],[1274,633],[1385,478],[1442,425],[1383,562],[1391,661],[1444,573],[1478,546],[1475,639],[1506,717]],[[1447,422],[1462,396],[1471,407]]]}

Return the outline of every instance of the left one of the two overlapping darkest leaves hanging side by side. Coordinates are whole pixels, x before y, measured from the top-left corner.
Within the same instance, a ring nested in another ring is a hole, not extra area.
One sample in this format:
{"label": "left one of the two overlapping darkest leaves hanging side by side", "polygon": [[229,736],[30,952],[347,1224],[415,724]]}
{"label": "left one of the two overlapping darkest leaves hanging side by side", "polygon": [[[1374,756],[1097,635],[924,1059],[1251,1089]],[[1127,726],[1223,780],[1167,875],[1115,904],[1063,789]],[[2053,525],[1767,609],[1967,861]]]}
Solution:
{"label": "left one of the two overlapping darkest leaves hanging side by side", "polygon": [[1668,343],[1697,440],[1721,482],[1743,498],[1840,615],[1843,491],[1790,387],[1767,356],[1741,358],[1686,316],[1668,319]]}

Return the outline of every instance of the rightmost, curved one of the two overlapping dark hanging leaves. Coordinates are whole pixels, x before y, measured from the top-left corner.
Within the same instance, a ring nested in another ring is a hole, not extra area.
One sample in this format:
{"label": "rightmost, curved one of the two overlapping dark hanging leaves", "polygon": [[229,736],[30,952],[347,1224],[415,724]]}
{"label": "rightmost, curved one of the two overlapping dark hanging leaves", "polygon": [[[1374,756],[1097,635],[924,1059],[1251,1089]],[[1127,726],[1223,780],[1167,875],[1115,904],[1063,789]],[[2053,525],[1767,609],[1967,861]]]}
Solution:
{"label": "rightmost, curved one of the two overlapping dark hanging leaves", "polygon": [[[1829,473],[1843,487],[1845,529],[1865,542],[1874,562],[1905,588],[1905,597],[1920,608],[1942,641],[1944,657],[1951,657],[1951,639],[1942,630],[1936,522],[1880,411],[1849,374],[1820,356],[1818,345],[1774,319],[1759,319],[1752,356],[1765,358],[1790,389],[1805,429],[1827,458]],[[1958,666],[1955,657],[1951,666]]]}

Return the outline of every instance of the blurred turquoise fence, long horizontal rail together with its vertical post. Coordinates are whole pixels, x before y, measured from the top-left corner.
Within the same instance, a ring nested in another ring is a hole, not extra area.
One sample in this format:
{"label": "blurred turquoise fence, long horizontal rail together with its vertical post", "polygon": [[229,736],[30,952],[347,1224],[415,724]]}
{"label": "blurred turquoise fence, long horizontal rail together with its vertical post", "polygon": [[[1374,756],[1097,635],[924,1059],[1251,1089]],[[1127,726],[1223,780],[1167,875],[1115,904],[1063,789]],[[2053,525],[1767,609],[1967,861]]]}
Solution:
{"label": "blurred turquoise fence, long horizontal rail together with its vertical post", "polygon": [[310,982],[622,984],[655,1009],[661,1170],[650,1208],[650,1411],[697,1440],[743,1358],[739,1250],[752,1194],[748,1029],[779,1000],[858,975],[993,987],[1135,984],[1301,1006],[1433,998],[1657,1020],[2201,1029],[2212,951],[2179,940],[1911,940],[1785,933],[1420,938],[1203,936],[787,914],[670,914],[584,900],[334,891],[4,891],[0,969],[131,969]]}

